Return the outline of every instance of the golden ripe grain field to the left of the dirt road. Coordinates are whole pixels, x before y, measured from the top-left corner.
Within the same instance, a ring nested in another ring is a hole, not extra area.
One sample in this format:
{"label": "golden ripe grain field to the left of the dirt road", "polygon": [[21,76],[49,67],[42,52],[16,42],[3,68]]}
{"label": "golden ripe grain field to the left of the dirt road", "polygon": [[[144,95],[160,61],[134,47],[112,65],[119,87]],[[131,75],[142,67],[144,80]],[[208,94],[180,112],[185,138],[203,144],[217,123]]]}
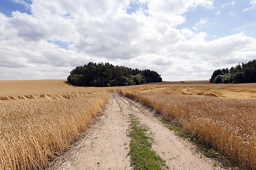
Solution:
{"label": "golden ripe grain field to the left of the dirt road", "polygon": [[11,82],[6,94],[0,91],[0,169],[46,168],[78,140],[107,101],[107,91],[99,88],[41,81],[30,91],[18,85],[11,91]]}

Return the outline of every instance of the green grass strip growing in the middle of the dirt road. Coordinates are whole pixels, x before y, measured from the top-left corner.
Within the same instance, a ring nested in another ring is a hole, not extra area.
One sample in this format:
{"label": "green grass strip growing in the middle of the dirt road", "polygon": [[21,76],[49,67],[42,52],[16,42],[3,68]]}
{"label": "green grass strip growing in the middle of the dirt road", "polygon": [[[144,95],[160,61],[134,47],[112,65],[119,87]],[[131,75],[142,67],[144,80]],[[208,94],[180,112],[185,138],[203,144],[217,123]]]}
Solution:
{"label": "green grass strip growing in the middle of the dirt road", "polygon": [[129,116],[131,119],[129,137],[132,138],[129,155],[134,169],[169,169],[165,161],[151,149],[153,138],[146,133],[149,129],[134,115]]}

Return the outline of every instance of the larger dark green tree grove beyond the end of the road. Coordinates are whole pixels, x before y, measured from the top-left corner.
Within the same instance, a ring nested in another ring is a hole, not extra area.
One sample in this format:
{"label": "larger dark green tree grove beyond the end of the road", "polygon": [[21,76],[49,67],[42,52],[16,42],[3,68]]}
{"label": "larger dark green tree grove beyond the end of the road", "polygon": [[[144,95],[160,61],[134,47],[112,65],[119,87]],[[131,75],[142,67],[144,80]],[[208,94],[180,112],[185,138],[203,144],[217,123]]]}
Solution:
{"label": "larger dark green tree grove beyond the end of the road", "polygon": [[130,86],[161,81],[161,76],[149,69],[92,62],[76,67],[68,76],[68,82],[76,86]]}

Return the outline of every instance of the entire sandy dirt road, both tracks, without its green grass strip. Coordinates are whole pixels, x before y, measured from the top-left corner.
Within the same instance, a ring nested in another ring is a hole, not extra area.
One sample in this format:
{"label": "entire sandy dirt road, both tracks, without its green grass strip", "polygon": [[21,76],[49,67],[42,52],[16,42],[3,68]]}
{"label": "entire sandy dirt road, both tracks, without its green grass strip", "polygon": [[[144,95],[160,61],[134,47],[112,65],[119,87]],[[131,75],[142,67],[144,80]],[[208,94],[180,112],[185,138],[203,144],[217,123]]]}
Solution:
{"label": "entire sandy dirt road, both tracks, without its green grass strip", "polygon": [[174,135],[140,103],[111,92],[104,113],[86,136],[60,157],[51,169],[132,169],[129,152],[129,113],[145,124],[154,137],[153,149],[170,169],[220,169],[191,143]]}

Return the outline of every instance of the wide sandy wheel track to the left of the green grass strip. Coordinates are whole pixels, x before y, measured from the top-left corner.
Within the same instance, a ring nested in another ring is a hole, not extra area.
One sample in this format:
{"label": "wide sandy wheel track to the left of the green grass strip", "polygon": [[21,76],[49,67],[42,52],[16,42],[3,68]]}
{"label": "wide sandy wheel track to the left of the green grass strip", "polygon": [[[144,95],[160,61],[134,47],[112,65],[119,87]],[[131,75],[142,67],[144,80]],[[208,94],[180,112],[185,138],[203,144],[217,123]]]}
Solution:
{"label": "wide sandy wheel track to the left of the green grass strip", "polygon": [[60,157],[50,169],[131,169],[129,117],[116,94],[110,93],[104,113],[87,130],[85,138]]}

